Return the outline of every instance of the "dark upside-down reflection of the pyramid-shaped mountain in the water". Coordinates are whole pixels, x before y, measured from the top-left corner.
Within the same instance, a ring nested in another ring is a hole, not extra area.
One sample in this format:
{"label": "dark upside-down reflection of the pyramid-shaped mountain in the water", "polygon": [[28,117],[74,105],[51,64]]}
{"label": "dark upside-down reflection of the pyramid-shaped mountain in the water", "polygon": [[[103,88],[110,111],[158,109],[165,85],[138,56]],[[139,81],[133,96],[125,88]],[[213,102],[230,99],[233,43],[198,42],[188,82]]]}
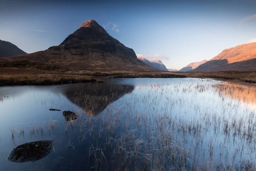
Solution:
{"label": "dark upside-down reflection of the pyramid-shaped mountain in the water", "polygon": [[85,113],[96,116],[109,104],[134,90],[133,85],[115,85],[111,83],[86,83],[63,89],[63,94]]}

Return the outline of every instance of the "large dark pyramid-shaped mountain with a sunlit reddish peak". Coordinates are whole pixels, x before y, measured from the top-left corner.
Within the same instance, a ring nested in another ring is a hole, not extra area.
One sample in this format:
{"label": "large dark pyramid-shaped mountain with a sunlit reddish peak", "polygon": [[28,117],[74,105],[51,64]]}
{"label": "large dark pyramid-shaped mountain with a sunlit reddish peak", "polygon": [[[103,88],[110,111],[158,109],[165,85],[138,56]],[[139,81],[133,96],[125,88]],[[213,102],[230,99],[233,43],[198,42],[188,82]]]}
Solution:
{"label": "large dark pyramid-shaped mountain with a sunlit reddish peak", "polygon": [[0,62],[12,63],[17,60],[90,71],[103,69],[104,71],[155,71],[154,68],[138,60],[133,49],[111,37],[94,20],[83,23],[59,46],[52,46],[45,51],[32,54],[4,58]]}

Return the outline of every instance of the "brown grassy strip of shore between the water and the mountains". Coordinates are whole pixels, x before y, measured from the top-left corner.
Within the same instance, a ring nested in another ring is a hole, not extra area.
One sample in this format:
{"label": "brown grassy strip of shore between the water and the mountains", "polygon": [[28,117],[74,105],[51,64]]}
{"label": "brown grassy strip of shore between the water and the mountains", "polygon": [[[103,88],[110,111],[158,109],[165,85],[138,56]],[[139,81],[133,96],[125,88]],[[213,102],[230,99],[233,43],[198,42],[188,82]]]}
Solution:
{"label": "brown grassy strip of shore between the water and the mountains", "polygon": [[256,84],[256,71],[220,72],[139,72],[139,71],[38,71],[30,69],[0,68],[0,86],[54,85],[96,81],[106,78],[208,78],[235,83]]}

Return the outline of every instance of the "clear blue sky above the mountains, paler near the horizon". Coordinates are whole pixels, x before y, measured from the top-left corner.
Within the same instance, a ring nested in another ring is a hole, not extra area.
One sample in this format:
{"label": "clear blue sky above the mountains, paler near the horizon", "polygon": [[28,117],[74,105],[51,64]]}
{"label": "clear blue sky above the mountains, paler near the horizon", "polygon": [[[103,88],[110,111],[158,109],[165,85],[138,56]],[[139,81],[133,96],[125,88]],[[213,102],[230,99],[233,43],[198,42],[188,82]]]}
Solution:
{"label": "clear blue sky above the mountains, paler near the horizon", "polygon": [[90,19],[136,54],[162,60],[167,68],[256,41],[252,0],[35,1],[0,0],[0,39],[27,53],[59,45]]}

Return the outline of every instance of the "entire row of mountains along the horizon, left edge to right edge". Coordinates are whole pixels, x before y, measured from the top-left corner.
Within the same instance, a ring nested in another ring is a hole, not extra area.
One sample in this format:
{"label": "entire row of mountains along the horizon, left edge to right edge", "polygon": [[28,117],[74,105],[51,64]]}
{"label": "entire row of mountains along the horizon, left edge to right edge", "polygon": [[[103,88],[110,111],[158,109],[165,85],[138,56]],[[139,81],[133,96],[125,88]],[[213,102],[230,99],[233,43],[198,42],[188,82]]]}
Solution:
{"label": "entire row of mountains along the horizon, left edge to right edge", "polygon": [[[87,71],[176,71],[161,60],[137,57],[134,50],[111,37],[94,20],[83,23],[59,46],[26,54],[10,42],[0,40],[0,67],[41,70],[77,69]],[[190,63],[179,71],[256,70],[256,43],[224,49],[210,60]]]}

